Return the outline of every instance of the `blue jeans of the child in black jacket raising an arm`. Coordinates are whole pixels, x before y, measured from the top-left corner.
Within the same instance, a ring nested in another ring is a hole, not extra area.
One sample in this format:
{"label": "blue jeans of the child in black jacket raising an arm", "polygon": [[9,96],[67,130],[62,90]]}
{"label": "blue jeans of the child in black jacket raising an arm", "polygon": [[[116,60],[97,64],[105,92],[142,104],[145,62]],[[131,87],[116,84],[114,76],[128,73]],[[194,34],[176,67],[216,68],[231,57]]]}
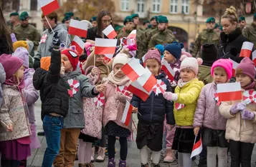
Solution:
{"label": "blue jeans of the child in black jacket raising an arm", "polygon": [[43,128],[46,138],[47,148],[44,152],[42,167],[52,167],[55,157],[60,151],[60,130],[63,126],[62,117],[44,116]]}

